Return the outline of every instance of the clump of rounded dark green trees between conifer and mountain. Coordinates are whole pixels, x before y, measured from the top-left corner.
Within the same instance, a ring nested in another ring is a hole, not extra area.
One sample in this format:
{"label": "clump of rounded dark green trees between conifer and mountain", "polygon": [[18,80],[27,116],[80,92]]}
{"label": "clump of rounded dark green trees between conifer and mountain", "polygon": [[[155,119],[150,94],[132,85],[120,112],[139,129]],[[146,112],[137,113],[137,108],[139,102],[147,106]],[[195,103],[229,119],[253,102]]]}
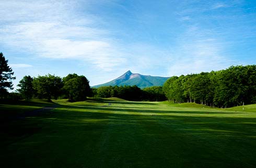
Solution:
{"label": "clump of rounded dark green trees between conifer and mountain", "polygon": [[50,101],[67,98],[69,101],[83,101],[92,94],[87,78],[75,73],[63,78],[51,74],[38,77],[28,75],[17,86],[17,91],[24,99],[44,98]]}

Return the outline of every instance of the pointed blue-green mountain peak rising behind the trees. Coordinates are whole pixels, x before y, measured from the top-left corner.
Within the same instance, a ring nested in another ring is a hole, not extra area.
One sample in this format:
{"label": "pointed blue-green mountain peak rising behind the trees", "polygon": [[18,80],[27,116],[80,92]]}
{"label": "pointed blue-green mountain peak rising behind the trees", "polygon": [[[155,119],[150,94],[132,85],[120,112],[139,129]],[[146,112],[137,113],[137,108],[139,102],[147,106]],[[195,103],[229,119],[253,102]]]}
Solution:
{"label": "pointed blue-green mountain peak rising behind the trees", "polygon": [[130,70],[125,72],[122,76],[118,77],[115,80],[110,82],[95,85],[92,87],[101,87],[101,86],[123,86],[123,85],[137,85],[140,88],[150,87],[150,86],[162,86],[169,77],[160,77],[160,76],[150,76],[150,75],[141,75],[138,73],[132,73]]}

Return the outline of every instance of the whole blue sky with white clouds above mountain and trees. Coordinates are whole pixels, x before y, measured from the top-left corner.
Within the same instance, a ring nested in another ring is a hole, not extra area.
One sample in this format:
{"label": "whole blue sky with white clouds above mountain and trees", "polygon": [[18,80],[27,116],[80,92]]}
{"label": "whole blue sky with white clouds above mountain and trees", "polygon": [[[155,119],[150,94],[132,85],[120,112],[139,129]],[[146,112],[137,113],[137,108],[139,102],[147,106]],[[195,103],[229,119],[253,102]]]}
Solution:
{"label": "whole blue sky with white clouds above mountain and trees", "polygon": [[25,75],[153,76],[256,64],[256,1],[0,0],[0,52]]}

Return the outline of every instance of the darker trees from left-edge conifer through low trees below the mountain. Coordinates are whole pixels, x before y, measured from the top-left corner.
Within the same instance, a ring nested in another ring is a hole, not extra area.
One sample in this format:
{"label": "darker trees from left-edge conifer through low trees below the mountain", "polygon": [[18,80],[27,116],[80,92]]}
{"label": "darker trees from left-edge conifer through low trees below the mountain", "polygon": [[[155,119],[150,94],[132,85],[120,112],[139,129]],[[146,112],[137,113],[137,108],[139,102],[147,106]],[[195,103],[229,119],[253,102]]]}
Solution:
{"label": "darker trees from left-edge conifer through low trees below the mountain", "polygon": [[166,100],[161,86],[141,89],[137,86],[107,86],[91,88],[89,81],[83,75],[68,74],[65,77],[55,75],[26,75],[19,81],[17,92],[8,93],[13,89],[14,72],[8,66],[8,60],[0,53],[0,99],[58,99],[66,98],[69,101],[83,101],[87,97],[119,97],[132,101],[162,101]]}

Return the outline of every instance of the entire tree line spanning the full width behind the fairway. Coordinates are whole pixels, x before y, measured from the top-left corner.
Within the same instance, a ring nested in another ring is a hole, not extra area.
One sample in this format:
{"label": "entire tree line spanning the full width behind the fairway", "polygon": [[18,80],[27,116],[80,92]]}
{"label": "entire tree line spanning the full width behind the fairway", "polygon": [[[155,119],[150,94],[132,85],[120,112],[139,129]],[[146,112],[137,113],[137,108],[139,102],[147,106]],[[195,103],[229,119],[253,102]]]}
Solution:
{"label": "entire tree line spanning the full width behind the fairway", "polygon": [[0,53],[0,99],[67,98],[69,101],[83,101],[87,96],[119,97],[132,101],[173,101],[174,103],[196,102],[213,107],[233,107],[256,102],[256,66],[231,66],[226,70],[201,72],[172,76],[164,86],[141,89],[137,86],[103,86],[90,88],[83,75],[68,74],[66,77],[55,75],[24,76],[13,89],[13,70],[8,60]]}

